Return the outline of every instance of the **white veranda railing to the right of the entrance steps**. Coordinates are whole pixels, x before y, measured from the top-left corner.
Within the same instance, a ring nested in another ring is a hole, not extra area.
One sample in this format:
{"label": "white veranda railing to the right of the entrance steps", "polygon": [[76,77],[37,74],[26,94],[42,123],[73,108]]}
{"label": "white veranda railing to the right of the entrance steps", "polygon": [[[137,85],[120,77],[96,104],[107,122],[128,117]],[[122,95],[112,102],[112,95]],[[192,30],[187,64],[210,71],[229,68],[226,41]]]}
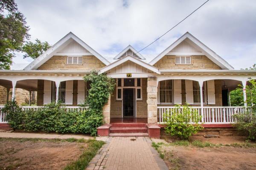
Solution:
{"label": "white veranda railing to the right of the entrance steps", "polygon": [[[173,113],[182,113],[183,107],[180,109],[170,106],[158,106],[157,107],[157,122],[165,123],[165,113],[172,115]],[[203,107],[203,113],[201,107],[191,107],[191,111],[197,111],[198,115],[202,116],[201,123],[205,124],[224,124],[235,123],[233,115],[243,114],[245,111],[252,111],[252,108],[244,108],[242,106],[215,106],[215,107]]]}

